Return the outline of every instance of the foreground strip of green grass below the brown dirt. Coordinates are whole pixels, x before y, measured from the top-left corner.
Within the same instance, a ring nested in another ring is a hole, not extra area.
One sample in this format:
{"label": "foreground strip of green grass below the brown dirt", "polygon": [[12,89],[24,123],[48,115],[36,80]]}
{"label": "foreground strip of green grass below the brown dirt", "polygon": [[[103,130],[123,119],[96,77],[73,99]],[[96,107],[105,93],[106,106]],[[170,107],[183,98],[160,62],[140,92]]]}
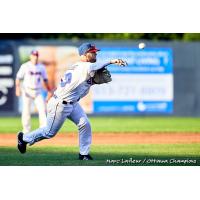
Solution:
{"label": "foreground strip of green grass below the brown dirt", "polygon": [[[200,144],[96,145],[95,160],[77,160],[78,147],[0,147],[1,166],[199,166]],[[175,162],[176,161],[176,162]],[[137,163],[134,163],[137,162]],[[172,162],[172,163],[170,163]]]}

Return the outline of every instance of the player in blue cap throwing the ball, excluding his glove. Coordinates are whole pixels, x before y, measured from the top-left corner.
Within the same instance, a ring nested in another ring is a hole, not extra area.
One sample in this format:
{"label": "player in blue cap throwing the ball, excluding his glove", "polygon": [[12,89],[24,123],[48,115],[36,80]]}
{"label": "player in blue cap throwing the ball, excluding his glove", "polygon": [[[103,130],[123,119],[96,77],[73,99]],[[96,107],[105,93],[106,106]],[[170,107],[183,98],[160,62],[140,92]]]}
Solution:
{"label": "player in blue cap throwing the ball, excluding his glove", "polygon": [[96,71],[110,64],[124,66],[124,61],[113,59],[107,63],[96,62],[99,49],[90,43],[83,43],[78,50],[80,61],[65,72],[48,102],[47,126],[27,134],[18,133],[18,150],[21,153],[26,152],[27,144],[33,145],[40,140],[54,137],[68,118],[78,127],[79,159],[93,160],[89,154],[92,141],[90,122],[78,101],[89,92]]}

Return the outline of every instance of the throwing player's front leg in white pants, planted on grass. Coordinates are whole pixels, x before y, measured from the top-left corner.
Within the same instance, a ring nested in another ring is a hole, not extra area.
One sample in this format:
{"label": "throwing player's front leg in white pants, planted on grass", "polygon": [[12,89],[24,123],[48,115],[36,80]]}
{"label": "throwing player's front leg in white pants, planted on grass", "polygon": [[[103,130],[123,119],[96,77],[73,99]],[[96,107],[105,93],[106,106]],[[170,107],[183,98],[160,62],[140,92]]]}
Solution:
{"label": "throwing player's front leg in white pants, planted on grass", "polygon": [[78,126],[80,154],[88,155],[92,142],[92,131],[87,115],[81,106],[76,103],[68,118]]}

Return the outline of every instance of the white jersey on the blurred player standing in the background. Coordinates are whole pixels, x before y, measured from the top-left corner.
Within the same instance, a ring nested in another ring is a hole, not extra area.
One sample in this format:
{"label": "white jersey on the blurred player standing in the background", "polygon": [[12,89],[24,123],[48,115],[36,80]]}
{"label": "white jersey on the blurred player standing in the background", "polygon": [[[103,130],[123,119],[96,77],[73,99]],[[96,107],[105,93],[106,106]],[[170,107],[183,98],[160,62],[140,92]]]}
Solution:
{"label": "white jersey on the blurred player standing in the background", "polygon": [[42,64],[32,64],[30,61],[21,65],[17,72],[17,79],[23,79],[23,87],[30,89],[41,89],[42,79],[47,80],[45,66]]}

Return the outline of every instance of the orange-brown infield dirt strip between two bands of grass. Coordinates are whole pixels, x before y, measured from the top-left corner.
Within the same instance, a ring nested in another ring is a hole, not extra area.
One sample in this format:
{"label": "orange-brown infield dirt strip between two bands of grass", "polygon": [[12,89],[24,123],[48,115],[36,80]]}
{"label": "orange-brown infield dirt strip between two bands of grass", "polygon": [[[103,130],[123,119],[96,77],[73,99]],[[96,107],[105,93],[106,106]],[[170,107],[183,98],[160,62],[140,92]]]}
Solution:
{"label": "orange-brown infield dirt strip between two bands of grass", "polygon": [[[0,146],[16,146],[15,134],[0,134]],[[200,143],[199,133],[93,133],[93,145],[103,144],[181,144]],[[77,133],[57,134],[37,146],[78,145]]]}

